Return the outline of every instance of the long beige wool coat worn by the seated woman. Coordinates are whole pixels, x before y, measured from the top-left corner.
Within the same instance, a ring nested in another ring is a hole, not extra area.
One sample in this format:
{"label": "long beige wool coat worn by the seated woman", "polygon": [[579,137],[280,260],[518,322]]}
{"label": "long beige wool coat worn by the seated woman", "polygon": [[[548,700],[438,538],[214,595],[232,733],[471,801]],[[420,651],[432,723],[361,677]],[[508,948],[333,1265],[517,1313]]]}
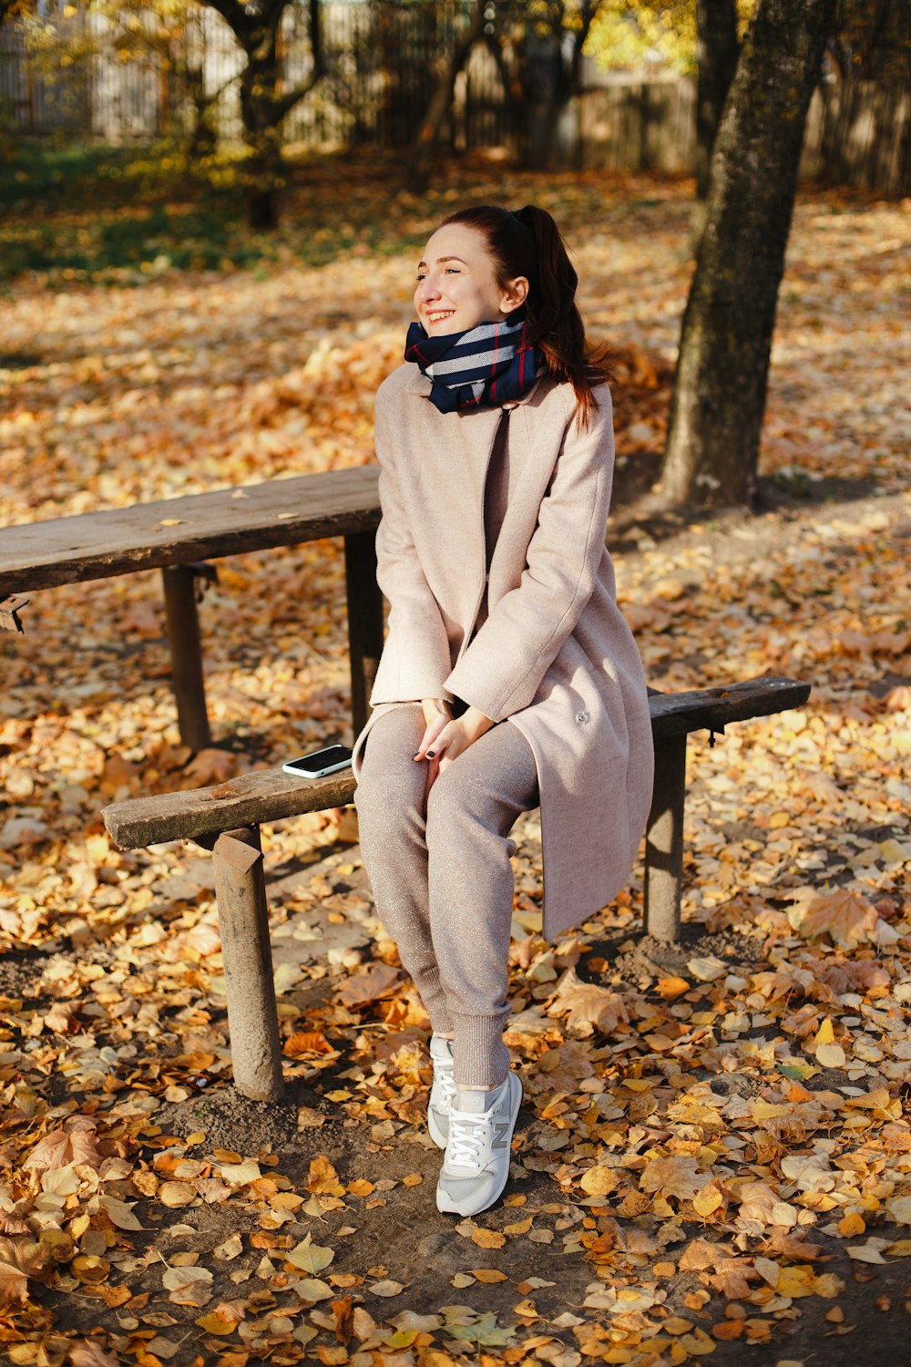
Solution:
{"label": "long beige wool coat worn by the seated woman", "polygon": [[[429,394],[408,364],[377,394],[377,580],[389,615],[354,774],[370,727],[396,704],[460,697],[508,718],[538,768],[553,938],[624,886],[651,801],[645,674],[604,544],[611,394],[597,387],[587,431],[576,429],[572,387],[549,377],[504,409],[440,413]],[[508,492],[486,574],[483,493],[500,422]]]}

